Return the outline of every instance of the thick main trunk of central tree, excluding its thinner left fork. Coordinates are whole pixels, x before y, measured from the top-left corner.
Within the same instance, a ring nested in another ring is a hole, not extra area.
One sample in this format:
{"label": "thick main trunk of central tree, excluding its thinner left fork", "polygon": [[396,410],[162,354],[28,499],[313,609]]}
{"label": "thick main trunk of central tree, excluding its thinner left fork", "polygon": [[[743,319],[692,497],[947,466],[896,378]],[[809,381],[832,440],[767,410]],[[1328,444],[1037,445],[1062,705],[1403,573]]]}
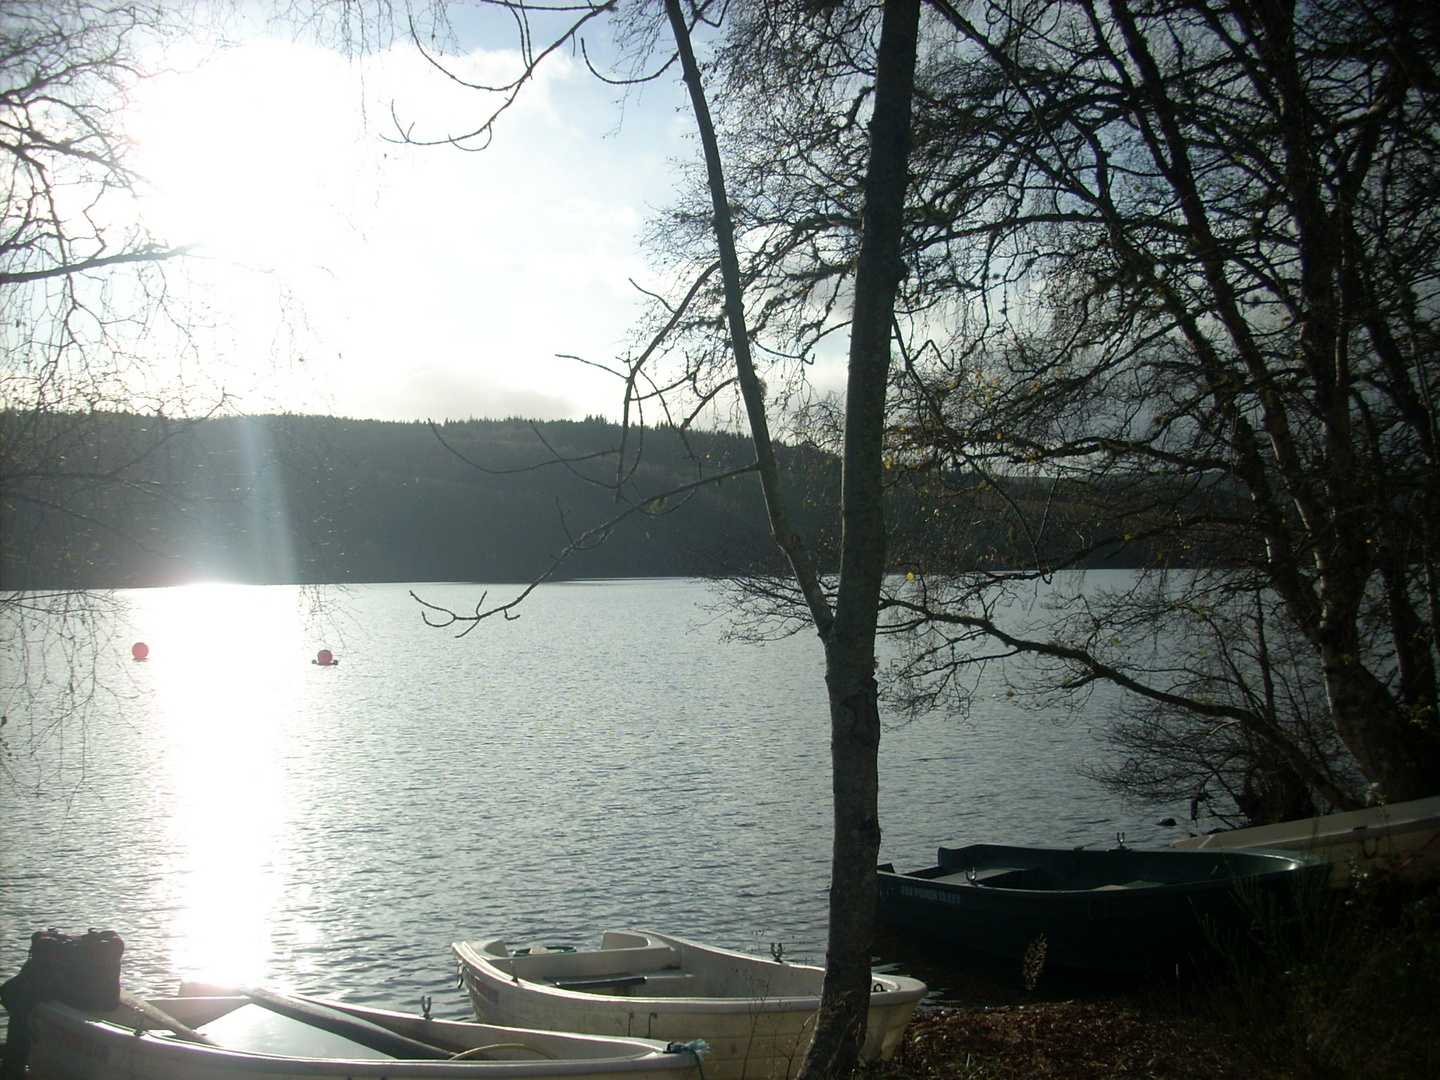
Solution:
{"label": "thick main trunk of central tree, excluding its thinner left fork", "polygon": [[850,330],[840,586],[835,621],[825,638],[835,812],[829,936],[819,1018],[799,1080],[850,1076],[860,1060],[870,1005],[880,855],[880,710],[874,671],[886,572],[881,504],[886,390],[894,297],[904,274],[901,235],[919,22],[919,0],[886,0]]}

